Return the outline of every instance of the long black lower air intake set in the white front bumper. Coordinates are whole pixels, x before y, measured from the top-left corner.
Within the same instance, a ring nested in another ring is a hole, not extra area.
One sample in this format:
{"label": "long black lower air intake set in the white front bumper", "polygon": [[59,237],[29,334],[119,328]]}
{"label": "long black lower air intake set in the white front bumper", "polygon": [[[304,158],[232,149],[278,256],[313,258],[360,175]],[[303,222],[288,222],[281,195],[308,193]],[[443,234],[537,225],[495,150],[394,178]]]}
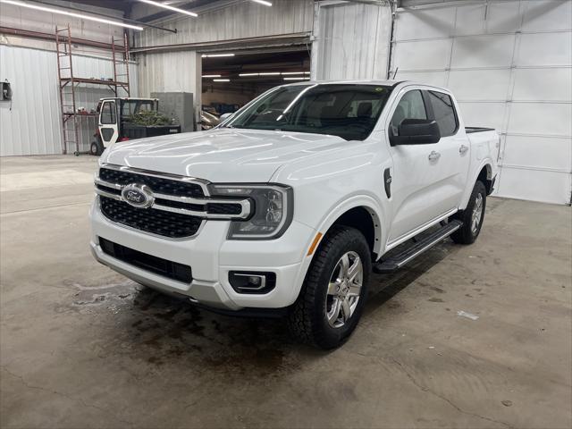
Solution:
{"label": "long black lower air intake set in the white front bumper", "polygon": [[126,248],[121,244],[105,240],[102,237],[98,237],[98,239],[99,246],[104,253],[110,257],[114,257],[151,273],[163,275],[177,282],[190,283],[193,280],[189,265],[172,262],[162,257],[153,257],[147,253],[139,252],[139,250]]}

